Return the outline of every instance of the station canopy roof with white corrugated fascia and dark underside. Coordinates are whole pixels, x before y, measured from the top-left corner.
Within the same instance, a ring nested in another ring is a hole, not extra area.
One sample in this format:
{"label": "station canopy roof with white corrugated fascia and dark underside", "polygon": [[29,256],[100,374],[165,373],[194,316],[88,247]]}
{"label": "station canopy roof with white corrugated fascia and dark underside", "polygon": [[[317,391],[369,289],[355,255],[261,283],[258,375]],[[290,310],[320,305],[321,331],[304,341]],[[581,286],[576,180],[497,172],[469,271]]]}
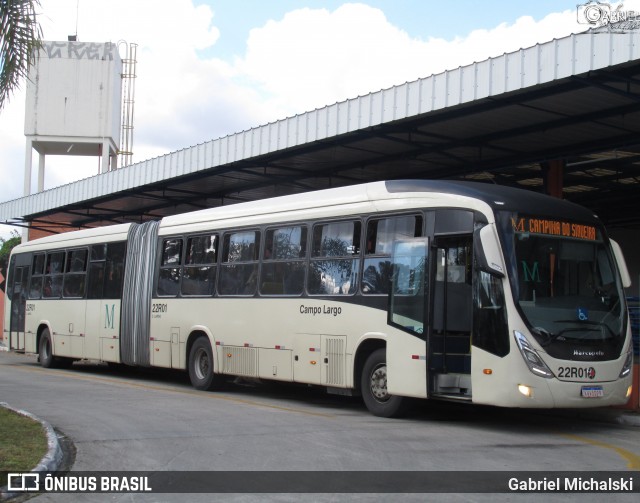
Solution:
{"label": "station canopy roof with white corrugated fascia and dark underside", "polygon": [[0,204],[0,221],[73,228],[373,180],[544,190],[640,227],[640,32],[589,31]]}

